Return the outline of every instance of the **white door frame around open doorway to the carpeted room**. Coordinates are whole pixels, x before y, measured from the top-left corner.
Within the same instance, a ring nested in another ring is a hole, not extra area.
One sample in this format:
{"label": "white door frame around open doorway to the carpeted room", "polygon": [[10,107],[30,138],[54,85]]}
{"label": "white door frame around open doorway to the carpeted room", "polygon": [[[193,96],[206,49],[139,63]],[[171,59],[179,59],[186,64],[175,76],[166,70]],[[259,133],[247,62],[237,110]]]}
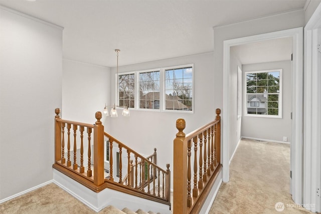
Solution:
{"label": "white door frame around open doorway to the carpeted room", "polygon": [[[303,168],[303,28],[294,28],[267,34],[225,40],[223,43],[223,181],[229,180],[229,88],[230,88],[230,48],[247,43],[266,41],[276,38],[292,37],[292,142],[290,151],[290,170],[292,171],[291,190],[295,203],[302,204]],[[290,113],[290,112],[288,112]]]}

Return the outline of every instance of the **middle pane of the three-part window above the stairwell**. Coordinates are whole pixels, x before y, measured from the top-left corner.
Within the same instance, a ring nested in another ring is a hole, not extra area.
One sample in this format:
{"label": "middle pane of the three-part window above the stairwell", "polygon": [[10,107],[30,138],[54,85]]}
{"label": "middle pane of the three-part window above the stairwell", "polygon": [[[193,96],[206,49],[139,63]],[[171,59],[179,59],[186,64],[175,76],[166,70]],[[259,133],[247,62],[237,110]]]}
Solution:
{"label": "middle pane of the three-part window above the stairwell", "polygon": [[160,72],[141,72],[139,75],[139,108],[159,109]]}

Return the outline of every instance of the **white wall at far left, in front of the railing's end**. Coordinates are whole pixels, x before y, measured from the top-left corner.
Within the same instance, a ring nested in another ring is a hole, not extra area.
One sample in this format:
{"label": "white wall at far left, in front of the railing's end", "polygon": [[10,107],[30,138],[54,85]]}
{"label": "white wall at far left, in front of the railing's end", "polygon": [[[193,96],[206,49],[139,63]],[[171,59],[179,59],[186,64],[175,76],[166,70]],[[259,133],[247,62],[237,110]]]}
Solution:
{"label": "white wall at far left, in front of the railing's end", "polygon": [[0,200],[53,179],[62,28],[0,8]]}

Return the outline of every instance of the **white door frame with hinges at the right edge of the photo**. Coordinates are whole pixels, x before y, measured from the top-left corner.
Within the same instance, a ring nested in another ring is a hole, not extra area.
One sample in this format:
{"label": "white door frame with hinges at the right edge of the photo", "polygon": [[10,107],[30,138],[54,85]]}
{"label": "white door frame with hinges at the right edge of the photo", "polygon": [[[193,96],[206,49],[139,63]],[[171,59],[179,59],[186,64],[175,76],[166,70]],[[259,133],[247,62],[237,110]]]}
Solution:
{"label": "white door frame with hinges at the right edge of the photo", "polygon": [[304,28],[303,206],[321,212],[321,4]]}

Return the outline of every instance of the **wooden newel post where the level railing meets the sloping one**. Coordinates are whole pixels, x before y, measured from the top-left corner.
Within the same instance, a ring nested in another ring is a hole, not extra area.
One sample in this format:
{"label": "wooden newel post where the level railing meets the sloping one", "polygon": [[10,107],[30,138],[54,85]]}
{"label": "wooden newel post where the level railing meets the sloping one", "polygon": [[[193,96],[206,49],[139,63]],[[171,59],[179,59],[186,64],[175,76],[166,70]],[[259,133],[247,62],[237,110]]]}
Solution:
{"label": "wooden newel post where the level railing meets the sloping one", "polygon": [[94,184],[100,186],[104,183],[104,126],[100,119],[102,114],[97,111],[97,121],[94,125]]}

